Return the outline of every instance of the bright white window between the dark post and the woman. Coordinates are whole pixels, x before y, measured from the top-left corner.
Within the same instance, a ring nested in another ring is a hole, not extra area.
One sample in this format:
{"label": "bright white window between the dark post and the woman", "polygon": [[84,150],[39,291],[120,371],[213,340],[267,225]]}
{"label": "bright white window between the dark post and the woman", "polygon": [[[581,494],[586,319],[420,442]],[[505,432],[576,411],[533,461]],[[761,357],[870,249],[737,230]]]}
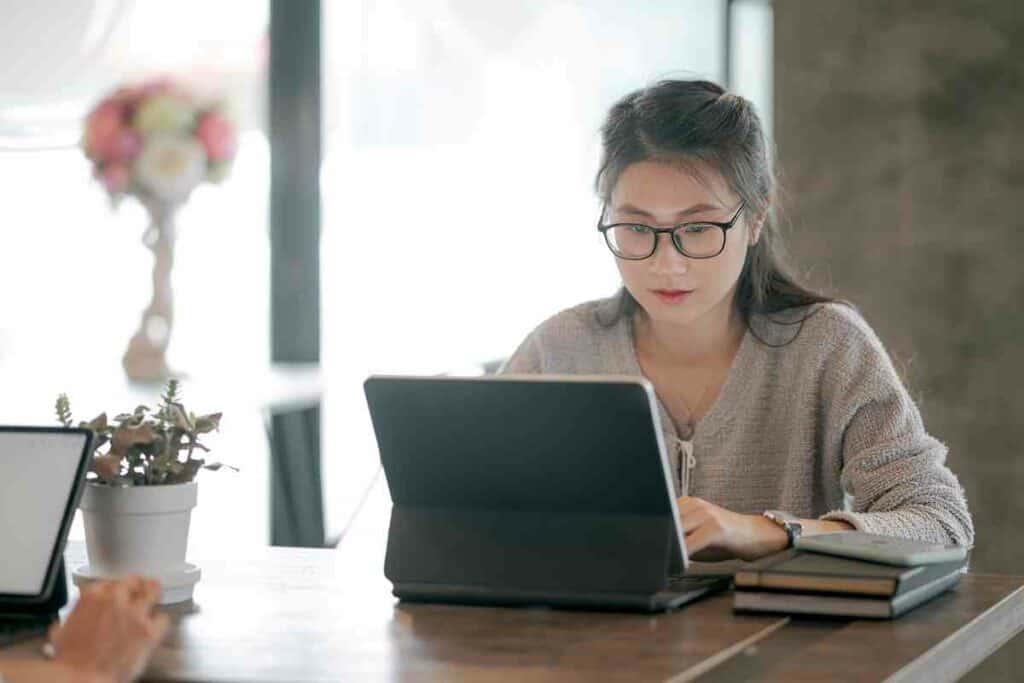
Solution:
{"label": "bright white window between the dark post and the woman", "polygon": [[658,78],[724,81],[725,20],[724,0],[325,5],[329,510],[376,471],[367,375],[478,372],[615,291],[602,119]]}

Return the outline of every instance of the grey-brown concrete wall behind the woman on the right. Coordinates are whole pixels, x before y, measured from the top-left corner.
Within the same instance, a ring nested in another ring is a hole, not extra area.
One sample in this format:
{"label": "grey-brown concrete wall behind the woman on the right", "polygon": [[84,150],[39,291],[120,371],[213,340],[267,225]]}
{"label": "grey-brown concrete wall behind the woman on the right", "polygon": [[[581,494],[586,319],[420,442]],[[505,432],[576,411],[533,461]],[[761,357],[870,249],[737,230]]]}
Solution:
{"label": "grey-brown concrete wall behind the woman on the right", "polygon": [[[1024,574],[1024,4],[775,0],[783,218],[950,450],[973,567]],[[1024,637],[969,677],[1019,680]]]}

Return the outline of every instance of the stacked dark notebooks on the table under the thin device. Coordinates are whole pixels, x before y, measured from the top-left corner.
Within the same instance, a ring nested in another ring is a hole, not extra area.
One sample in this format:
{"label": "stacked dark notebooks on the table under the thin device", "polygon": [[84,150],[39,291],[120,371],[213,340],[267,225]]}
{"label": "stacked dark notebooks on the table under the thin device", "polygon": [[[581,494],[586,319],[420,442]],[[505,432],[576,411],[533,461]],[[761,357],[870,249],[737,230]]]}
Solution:
{"label": "stacked dark notebooks on the table under the thin device", "polygon": [[895,566],[791,549],[736,572],[734,607],[894,618],[955,586],[967,561]]}

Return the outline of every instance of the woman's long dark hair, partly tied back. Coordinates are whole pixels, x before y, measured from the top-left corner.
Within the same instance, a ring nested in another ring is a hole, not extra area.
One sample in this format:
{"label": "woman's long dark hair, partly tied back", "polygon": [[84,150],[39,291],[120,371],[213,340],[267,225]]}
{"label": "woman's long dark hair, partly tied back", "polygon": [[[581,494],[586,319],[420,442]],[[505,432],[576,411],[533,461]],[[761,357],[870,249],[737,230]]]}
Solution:
{"label": "woman's long dark hair, partly tied back", "polygon": [[[718,171],[742,199],[746,216],[766,218],[756,245],[746,251],[746,260],[736,288],[736,307],[754,336],[767,342],[752,327],[755,313],[772,315],[792,308],[835,299],[801,286],[786,266],[771,209],[775,205],[776,182],[768,160],[761,119],[754,105],[726,92],[710,81],[660,81],[631,92],[612,105],[601,127],[602,159],[595,178],[598,195],[608,201],[623,170],[641,161],[682,164],[699,176],[700,165]],[[846,302],[840,302],[846,303]],[[633,315],[636,299],[624,287],[611,326],[624,315]],[[812,313],[796,319],[772,319],[782,325],[799,325]]]}

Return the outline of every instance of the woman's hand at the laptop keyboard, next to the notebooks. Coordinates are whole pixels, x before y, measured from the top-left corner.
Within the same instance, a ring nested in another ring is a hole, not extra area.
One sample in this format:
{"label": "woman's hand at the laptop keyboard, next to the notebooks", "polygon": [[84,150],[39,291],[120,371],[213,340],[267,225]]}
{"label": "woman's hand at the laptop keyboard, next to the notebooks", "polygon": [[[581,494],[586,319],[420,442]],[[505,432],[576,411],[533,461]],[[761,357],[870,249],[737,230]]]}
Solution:
{"label": "woman's hand at the laptop keyboard, next to the notebooks", "polygon": [[680,498],[679,516],[686,552],[697,561],[755,560],[783,550],[790,543],[782,527],[770,519],[732,512],[700,498]]}

